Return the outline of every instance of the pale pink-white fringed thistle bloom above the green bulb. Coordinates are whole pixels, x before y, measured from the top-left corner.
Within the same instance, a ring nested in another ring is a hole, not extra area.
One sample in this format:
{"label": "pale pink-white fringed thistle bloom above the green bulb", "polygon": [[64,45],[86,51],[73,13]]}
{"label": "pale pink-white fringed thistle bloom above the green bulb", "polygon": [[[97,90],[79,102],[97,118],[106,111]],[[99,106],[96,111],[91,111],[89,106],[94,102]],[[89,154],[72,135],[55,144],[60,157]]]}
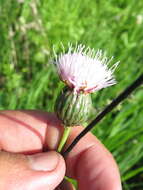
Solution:
{"label": "pale pink-white fringed thistle bloom above the green bulb", "polygon": [[67,53],[56,57],[58,74],[63,82],[74,92],[91,93],[116,83],[113,72],[118,65],[108,68],[111,61],[103,55],[101,50],[69,45]]}

